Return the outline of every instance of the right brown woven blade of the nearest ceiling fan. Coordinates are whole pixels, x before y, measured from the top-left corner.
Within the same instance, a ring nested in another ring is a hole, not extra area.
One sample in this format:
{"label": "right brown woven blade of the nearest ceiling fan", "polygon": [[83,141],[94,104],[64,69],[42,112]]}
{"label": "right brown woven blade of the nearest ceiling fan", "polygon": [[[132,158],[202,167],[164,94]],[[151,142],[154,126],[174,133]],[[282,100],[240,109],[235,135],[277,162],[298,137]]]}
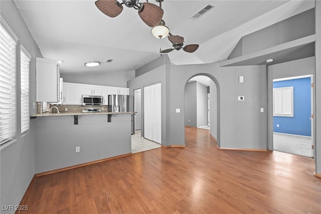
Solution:
{"label": "right brown woven blade of the nearest ceiling fan", "polygon": [[142,3],[141,6],[138,15],[146,25],[154,27],[161,22],[164,15],[162,8],[151,3]]}

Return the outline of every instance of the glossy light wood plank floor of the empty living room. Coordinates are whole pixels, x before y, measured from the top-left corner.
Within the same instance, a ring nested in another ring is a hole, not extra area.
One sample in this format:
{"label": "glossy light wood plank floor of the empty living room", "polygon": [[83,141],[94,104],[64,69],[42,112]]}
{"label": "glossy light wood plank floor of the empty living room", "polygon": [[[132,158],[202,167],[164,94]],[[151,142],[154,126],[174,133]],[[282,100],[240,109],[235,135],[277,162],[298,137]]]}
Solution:
{"label": "glossy light wood plank floor of the empty living room", "polygon": [[186,148],[158,148],[38,177],[21,213],[320,213],[311,158],[219,150],[187,127]]}

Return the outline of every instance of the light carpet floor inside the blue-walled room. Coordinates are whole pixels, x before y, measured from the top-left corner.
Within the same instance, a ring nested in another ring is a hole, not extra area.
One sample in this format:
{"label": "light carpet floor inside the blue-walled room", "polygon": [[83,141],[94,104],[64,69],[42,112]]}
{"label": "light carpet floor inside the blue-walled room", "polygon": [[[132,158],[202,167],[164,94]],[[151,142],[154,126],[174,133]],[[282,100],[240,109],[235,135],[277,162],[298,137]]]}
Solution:
{"label": "light carpet floor inside the blue-walled room", "polygon": [[273,132],[273,149],[305,157],[312,156],[311,137]]}

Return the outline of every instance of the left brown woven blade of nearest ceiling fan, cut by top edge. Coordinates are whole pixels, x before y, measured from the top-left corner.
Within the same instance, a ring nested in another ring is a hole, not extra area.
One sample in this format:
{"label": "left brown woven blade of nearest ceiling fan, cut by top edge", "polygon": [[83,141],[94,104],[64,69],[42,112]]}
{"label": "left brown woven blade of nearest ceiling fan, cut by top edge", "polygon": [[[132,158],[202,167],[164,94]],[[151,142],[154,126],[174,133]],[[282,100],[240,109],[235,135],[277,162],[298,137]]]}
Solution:
{"label": "left brown woven blade of nearest ceiling fan, cut by top edge", "polygon": [[95,2],[97,8],[108,17],[117,17],[123,7],[116,0],[98,0]]}

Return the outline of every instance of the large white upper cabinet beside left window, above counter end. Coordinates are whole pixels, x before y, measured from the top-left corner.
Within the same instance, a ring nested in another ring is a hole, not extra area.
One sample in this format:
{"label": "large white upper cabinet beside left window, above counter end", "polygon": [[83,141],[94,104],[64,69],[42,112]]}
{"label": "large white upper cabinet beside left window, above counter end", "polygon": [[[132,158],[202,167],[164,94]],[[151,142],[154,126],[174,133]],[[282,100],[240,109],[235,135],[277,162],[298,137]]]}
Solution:
{"label": "large white upper cabinet beside left window, above counter end", "polygon": [[58,62],[36,58],[36,101],[59,102],[60,72]]}

